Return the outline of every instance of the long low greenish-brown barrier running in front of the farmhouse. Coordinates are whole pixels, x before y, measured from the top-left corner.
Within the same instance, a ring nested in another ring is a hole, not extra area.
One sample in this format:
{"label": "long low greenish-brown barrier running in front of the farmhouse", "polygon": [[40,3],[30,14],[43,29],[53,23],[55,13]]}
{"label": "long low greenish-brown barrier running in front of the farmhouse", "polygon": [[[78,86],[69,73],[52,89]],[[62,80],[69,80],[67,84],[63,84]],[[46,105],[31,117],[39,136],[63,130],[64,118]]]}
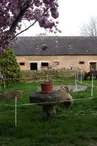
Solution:
{"label": "long low greenish-brown barrier running in front of the farmhouse", "polygon": [[73,77],[75,72],[71,70],[65,70],[65,69],[52,69],[52,70],[39,70],[39,71],[21,71],[21,81],[24,82],[31,82],[31,81],[46,81],[47,79],[47,72],[49,74],[50,80],[56,80],[61,77]]}

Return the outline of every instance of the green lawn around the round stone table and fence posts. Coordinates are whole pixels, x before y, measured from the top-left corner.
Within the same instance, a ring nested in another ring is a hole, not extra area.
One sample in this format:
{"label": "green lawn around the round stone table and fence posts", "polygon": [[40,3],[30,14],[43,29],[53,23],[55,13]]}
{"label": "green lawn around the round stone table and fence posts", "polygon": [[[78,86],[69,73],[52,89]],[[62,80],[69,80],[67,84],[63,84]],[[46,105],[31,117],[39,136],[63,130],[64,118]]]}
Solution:
{"label": "green lawn around the round stone table and fence posts", "polygon": [[[74,78],[60,78],[54,85],[74,85]],[[83,85],[91,81],[83,81]],[[94,80],[97,86],[97,80]],[[21,90],[18,105],[29,103],[29,96],[39,88],[38,82],[9,85],[4,90]],[[14,125],[14,100],[0,102],[0,146],[96,146],[97,88],[71,92],[72,107],[56,107],[57,114],[41,118],[41,106],[18,106],[18,123]],[[89,99],[88,99],[89,98]]]}

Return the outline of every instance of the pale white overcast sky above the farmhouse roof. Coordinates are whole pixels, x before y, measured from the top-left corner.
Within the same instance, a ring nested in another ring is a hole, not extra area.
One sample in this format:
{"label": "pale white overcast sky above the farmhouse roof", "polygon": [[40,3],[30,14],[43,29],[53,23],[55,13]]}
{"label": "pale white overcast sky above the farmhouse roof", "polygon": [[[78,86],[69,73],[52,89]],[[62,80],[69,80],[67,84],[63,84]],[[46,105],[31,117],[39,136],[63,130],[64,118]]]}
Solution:
{"label": "pale white overcast sky above the farmhouse roof", "polygon": [[[57,35],[71,36],[80,35],[80,27],[88,23],[92,16],[97,16],[97,0],[58,0],[59,1],[59,29],[62,33]],[[33,36],[44,33],[45,30],[38,24],[21,34]],[[48,33],[48,35],[53,35]]]}

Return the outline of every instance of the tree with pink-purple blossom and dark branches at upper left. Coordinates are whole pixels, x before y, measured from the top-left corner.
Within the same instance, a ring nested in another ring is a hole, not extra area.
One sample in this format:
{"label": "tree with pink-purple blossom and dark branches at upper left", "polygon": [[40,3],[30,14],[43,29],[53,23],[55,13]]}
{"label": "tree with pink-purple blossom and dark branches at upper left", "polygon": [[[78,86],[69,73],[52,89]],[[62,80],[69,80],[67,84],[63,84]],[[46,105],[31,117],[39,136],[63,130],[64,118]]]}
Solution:
{"label": "tree with pink-purple blossom and dark branches at upper left", "polygon": [[[36,22],[50,31],[58,30],[55,21],[58,16],[57,0],[0,0],[0,53],[12,39]],[[23,20],[31,21],[31,24],[21,31]]]}

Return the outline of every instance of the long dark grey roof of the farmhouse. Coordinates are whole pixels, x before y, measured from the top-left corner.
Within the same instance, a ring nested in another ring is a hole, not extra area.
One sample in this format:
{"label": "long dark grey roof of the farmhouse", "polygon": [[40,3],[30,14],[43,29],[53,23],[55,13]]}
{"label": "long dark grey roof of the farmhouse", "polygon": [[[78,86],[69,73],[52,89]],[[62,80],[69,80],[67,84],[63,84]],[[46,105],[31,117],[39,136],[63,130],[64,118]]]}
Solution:
{"label": "long dark grey roof of the farmhouse", "polygon": [[[41,46],[48,48],[43,51]],[[14,53],[25,55],[97,55],[97,37],[36,36],[14,40]]]}

